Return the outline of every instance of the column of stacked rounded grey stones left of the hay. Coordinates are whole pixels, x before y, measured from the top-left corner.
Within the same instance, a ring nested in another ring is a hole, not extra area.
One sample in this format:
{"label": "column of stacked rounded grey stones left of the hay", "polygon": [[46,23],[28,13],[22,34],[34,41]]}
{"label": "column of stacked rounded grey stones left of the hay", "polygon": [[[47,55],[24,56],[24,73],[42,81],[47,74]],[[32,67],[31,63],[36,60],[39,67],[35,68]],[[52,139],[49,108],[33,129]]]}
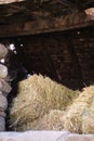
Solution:
{"label": "column of stacked rounded grey stones left of the hay", "polygon": [[[0,43],[0,60],[4,60],[8,49]],[[6,95],[11,91],[11,87],[6,81],[8,67],[0,64],[0,131],[5,130],[5,110],[8,107]]]}

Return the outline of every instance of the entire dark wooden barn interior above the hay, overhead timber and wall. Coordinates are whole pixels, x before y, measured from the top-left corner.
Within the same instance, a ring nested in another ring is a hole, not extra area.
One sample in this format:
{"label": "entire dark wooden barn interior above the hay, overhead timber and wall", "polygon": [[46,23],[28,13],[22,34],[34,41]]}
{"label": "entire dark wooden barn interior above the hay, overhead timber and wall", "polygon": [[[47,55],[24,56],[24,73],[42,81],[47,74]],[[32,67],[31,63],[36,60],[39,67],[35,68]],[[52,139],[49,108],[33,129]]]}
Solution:
{"label": "entire dark wooden barn interior above the hay, overhead timber and wall", "polygon": [[[42,74],[77,90],[94,84],[93,0],[0,1],[0,42],[16,85]],[[13,95],[9,95],[9,101]]]}

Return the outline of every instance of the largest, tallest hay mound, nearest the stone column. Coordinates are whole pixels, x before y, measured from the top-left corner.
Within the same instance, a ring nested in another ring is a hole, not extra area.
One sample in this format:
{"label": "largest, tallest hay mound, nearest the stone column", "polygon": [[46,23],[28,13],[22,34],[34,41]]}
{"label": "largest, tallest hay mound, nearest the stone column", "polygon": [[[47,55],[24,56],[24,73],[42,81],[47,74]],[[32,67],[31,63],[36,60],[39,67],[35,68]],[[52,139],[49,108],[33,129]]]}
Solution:
{"label": "largest, tallest hay mound, nearest the stone column", "polygon": [[[33,75],[19,82],[18,95],[11,108],[11,120],[16,129],[24,123],[42,117],[50,110],[65,110],[78,92],[70,90],[42,75]],[[19,126],[18,126],[19,125]],[[27,128],[24,127],[24,130]]]}

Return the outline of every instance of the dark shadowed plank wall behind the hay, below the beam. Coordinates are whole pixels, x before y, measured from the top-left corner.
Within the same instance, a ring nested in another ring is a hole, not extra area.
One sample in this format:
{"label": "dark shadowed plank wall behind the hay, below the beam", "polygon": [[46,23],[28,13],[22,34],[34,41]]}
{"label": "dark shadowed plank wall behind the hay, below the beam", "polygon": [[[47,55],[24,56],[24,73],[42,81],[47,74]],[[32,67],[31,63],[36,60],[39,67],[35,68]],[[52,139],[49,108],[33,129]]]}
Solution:
{"label": "dark shadowed plank wall behind the hay, below the beam", "polygon": [[93,27],[10,40],[30,74],[46,75],[71,89],[94,84]]}

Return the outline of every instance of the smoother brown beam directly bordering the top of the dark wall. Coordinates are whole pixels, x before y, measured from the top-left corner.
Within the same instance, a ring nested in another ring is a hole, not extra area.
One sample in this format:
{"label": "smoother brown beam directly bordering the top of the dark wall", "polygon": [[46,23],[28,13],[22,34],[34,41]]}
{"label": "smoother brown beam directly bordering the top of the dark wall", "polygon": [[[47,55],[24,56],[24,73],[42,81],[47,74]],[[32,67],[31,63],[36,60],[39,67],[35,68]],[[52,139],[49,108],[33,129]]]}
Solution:
{"label": "smoother brown beam directly bordering the top of the dark wall", "polygon": [[90,25],[93,26],[94,21],[91,21],[84,13],[70,14],[68,16],[38,18],[32,22],[2,25],[0,26],[0,37],[62,31]]}

